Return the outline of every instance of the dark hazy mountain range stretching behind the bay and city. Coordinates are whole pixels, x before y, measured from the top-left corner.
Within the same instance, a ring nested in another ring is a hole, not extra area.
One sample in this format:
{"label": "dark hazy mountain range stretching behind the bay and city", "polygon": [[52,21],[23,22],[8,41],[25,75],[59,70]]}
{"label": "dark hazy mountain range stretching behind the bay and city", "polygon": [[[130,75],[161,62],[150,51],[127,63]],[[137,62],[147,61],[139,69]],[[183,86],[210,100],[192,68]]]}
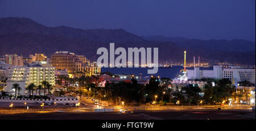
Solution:
{"label": "dark hazy mountain range stretching behind the bay and city", "polygon": [[124,29],[79,29],[46,27],[29,18],[0,18],[0,55],[44,53],[50,57],[59,50],[83,54],[96,61],[100,47],[158,47],[159,61],[183,62],[200,56],[202,62],[255,64],[255,42],[246,40],[199,40],[184,37],[137,36]]}

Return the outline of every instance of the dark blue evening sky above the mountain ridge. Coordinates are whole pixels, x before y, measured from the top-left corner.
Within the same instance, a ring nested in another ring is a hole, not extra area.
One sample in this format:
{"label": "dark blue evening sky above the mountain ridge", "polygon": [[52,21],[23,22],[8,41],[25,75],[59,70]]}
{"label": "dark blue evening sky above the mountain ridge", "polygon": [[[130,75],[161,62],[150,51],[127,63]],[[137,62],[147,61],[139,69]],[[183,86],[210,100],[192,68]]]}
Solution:
{"label": "dark blue evening sky above the mountain ridge", "polygon": [[123,28],[139,36],[255,41],[255,0],[0,0],[0,17],[9,16],[49,27]]}

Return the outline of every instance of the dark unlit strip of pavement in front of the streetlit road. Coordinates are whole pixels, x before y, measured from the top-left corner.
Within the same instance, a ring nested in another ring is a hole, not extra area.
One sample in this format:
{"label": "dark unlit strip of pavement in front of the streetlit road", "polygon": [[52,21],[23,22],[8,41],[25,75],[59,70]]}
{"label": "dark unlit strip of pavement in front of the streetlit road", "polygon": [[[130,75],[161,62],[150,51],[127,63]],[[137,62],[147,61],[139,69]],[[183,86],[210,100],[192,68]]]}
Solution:
{"label": "dark unlit strip of pavement in front of the streetlit road", "polygon": [[0,115],[1,120],[255,120],[251,110],[197,110],[118,112],[55,112]]}

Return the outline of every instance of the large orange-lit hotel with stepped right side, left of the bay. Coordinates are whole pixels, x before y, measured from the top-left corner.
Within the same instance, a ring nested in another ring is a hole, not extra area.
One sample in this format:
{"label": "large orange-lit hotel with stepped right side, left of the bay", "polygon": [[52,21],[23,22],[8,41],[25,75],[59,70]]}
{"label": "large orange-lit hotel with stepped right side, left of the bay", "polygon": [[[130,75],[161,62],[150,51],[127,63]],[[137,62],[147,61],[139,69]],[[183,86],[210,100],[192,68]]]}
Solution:
{"label": "large orange-lit hotel with stepped right side, left of the bay", "polygon": [[101,68],[96,63],[90,64],[85,56],[65,51],[52,54],[51,63],[56,70],[67,69],[69,77],[91,76],[101,72]]}

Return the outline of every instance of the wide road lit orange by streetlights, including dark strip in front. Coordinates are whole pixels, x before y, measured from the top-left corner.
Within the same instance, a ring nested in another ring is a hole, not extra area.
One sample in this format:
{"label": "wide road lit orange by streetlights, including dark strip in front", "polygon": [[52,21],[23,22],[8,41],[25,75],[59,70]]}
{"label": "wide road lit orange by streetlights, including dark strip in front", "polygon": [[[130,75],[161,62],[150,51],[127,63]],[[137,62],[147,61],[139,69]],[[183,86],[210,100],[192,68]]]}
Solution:
{"label": "wide road lit orange by streetlights, including dark strip in front", "polygon": [[[54,120],[112,120],[112,119],[137,119],[137,120],[255,120],[255,112],[243,106],[241,109],[225,109],[217,110],[218,106],[141,106],[141,107],[122,107],[114,106],[115,112],[94,112],[97,105],[90,99],[83,98],[80,100],[80,107],[71,107],[70,105],[59,104],[57,107],[53,105],[44,105],[44,110],[40,104],[27,103],[30,107],[25,109],[24,103],[13,103],[14,107],[9,107],[10,103],[0,103],[0,119],[1,120],[38,120],[38,119],[54,119]],[[101,104],[102,105],[102,104]],[[108,104],[105,102],[103,106],[106,108]],[[120,108],[126,108],[129,111],[120,113]],[[134,110],[135,109],[135,110]],[[130,111],[134,111],[130,113]],[[71,117],[72,116],[72,117]]]}

